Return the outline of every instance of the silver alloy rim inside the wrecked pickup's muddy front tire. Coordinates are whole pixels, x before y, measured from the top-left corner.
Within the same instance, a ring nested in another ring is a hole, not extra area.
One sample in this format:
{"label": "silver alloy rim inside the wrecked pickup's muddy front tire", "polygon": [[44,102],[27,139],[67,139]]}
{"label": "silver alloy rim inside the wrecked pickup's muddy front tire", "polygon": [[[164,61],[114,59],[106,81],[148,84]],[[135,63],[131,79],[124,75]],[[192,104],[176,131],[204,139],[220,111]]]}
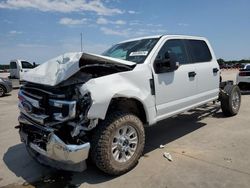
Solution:
{"label": "silver alloy rim inside the wrecked pickup's muddy front tire", "polygon": [[112,156],[117,162],[127,162],[134,155],[137,145],[137,131],[130,125],[123,125],[112,139]]}

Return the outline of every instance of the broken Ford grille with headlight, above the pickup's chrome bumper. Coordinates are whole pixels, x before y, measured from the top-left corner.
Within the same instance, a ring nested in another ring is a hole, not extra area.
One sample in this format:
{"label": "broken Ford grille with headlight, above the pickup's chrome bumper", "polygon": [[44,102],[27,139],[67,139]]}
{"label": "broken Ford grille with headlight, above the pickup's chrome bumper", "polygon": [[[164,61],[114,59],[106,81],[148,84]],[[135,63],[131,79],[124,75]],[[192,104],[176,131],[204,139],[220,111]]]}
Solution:
{"label": "broken Ford grille with headlight, above the pickup's chrome bumper", "polygon": [[19,109],[22,114],[41,125],[52,125],[75,117],[76,101],[59,90],[45,90],[34,86],[20,88]]}

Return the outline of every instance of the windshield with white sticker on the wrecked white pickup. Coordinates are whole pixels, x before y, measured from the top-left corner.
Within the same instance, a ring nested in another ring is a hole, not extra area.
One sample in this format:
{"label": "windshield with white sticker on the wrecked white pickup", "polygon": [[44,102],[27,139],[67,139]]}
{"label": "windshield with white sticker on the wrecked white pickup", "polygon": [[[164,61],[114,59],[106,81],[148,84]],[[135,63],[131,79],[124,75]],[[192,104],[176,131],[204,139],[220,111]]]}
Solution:
{"label": "windshield with white sticker on the wrecked white pickup", "polygon": [[148,38],[116,44],[102,55],[143,63],[158,40],[159,38]]}

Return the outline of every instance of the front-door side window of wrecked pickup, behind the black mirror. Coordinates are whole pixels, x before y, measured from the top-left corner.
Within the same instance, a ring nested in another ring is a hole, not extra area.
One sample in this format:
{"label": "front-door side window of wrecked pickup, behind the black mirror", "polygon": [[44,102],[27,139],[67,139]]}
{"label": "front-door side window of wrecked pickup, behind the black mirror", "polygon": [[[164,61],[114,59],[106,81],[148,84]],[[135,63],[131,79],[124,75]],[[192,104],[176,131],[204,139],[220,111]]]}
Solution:
{"label": "front-door side window of wrecked pickup, behind the black mirror", "polygon": [[179,40],[179,39],[168,40],[162,46],[156,58],[157,59],[166,58],[167,52],[168,54],[172,54],[176,58],[176,61],[179,62],[180,65],[188,63],[185,46],[182,40]]}

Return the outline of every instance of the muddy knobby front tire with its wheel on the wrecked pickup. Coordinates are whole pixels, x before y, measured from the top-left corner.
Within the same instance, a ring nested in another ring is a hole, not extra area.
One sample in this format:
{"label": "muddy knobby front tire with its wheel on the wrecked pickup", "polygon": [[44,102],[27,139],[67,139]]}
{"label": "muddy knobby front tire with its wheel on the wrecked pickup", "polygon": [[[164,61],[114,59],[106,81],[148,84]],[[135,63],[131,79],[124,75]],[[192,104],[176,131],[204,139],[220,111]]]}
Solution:
{"label": "muddy knobby front tire with its wheel on the wrecked pickup", "polygon": [[144,127],[133,114],[113,112],[94,130],[91,158],[110,175],[121,175],[137,164],[145,144]]}

